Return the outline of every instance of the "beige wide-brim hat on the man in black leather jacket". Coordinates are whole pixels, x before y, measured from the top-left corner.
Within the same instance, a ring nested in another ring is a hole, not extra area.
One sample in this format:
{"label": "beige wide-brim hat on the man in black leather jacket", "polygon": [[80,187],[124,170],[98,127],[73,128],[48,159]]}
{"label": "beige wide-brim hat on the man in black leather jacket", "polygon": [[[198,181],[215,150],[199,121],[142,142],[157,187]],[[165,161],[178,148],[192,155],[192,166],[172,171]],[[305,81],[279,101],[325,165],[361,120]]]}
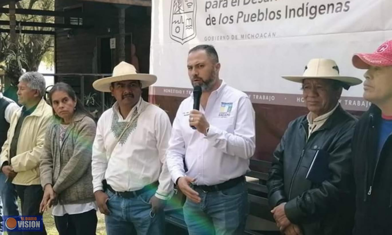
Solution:
{"label": "beige wide-brim hat on the man in black leather jacket", "polygon": [[339,67],[334,60],[312,59],[305,67],[302,76],[282,76],[289,81],[302,83],[307,78],[323,78],[341,81],[348,86],[355,86],[362,83],[362,80],[354,77],[340,76]]}

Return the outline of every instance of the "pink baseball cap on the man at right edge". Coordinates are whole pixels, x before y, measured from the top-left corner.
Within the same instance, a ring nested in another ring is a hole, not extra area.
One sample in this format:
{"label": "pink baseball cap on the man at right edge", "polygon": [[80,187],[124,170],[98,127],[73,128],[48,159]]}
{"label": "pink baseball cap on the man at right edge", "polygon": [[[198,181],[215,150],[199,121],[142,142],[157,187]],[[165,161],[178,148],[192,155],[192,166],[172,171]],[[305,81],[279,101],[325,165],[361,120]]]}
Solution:
{"label": "pink baseball cap on the man at right edge", "polygon": [[370,65],[392,66],[392,40],[384,42],[374,53],[354,54],[352,64],[358,69],[368,69]]}

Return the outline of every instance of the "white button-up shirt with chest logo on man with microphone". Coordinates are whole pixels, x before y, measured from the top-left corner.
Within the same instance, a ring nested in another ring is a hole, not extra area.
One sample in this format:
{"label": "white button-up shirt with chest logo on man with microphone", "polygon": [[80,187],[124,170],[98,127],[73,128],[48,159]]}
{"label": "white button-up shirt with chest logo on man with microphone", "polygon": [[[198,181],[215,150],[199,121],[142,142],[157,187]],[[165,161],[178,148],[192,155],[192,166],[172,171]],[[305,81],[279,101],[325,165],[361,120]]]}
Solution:
{"label": "white button-up shirt with chest logo on man with microphone", "polygon": [[173,181],[187,175],[197,185],[214,185],[245,175],[255,151],[255,113],[249,97],[222,81],[205,110],[200,106],[210,124],[207,136],[189,126],[192,109],[190,96],[181,102],[174,119],[166,155]]}

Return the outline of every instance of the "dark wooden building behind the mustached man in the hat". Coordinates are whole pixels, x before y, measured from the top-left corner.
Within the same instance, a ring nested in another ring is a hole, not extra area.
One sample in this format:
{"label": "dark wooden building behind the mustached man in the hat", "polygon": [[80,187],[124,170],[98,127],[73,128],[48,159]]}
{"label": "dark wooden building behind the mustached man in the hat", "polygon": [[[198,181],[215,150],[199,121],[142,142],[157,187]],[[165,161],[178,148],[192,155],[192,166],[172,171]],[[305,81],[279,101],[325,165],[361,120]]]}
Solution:
{"label": "dark wooden building behind the mustached man in the hat", "polygon": [[[70,15],[56,17],[55,23],[81,27],[56,29],[56,74],[111,74],[122,60],[135,65],[140,73],[149,72],[150,0],[55,0],[55,11]],[[83,85],[80,76],[56,80],[71,84],[85,99],[95,96],[102,100],[92,88],[98,78],[85,76]],[[148,89],[143,90],[143,98],[148,99]],[[113,103],[109,95],[104,100],[106,107]]]}

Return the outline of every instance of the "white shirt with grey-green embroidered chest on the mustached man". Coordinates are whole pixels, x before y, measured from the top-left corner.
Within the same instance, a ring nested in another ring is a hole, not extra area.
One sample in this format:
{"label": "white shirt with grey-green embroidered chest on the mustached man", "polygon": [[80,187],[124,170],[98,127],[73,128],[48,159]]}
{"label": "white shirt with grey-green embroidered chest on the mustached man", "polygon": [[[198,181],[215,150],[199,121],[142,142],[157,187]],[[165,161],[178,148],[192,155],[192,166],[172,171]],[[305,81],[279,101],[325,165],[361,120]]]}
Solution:
{"label": "white shirt with grey-green embroidered chest on the mustached man", "polygon": [[[125,125],[138,112],[135,125],[127,128],[114,145]],[[92,156],[94,192],[102,190],[103,179],[118,192],[140,190],[159,180],[155,195],[168,199],[173,188],[165,159],[170,133],[169,116],[156,105],[140,98],[123,119],[115,103],[102,114],[97,124]]]}

